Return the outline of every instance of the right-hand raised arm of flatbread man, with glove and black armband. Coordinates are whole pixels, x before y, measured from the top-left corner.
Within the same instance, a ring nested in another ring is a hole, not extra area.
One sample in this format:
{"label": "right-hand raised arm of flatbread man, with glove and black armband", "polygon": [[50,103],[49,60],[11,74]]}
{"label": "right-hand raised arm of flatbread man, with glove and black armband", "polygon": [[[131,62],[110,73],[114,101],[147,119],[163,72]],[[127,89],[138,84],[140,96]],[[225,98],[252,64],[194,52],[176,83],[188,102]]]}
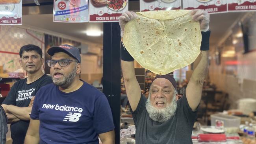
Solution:
{"label": "right-hand raised arm of flatbread man, with glove and black armband", "polygon": [[210,38],[210,31],[208,31],[208,29],[210,16],[206,11],[198,9],[192,11],[191,15],[194,20],[200,21],[200,28],[202,31],[202,42],[200,48],[200,56],[202,57],[195,70],[193,70],[186,89],[187,102],[189,103],[192,111],[195,111],[201,100],[204,78],[208,74],[208,50]]}

